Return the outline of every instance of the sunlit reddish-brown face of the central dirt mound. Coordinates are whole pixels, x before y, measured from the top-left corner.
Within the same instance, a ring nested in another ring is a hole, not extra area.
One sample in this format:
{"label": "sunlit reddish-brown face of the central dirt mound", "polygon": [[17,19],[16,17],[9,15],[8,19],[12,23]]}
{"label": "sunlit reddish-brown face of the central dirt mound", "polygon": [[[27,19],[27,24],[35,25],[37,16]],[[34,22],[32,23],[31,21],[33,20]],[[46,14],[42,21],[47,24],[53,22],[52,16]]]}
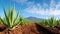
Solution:
{"label": "sunlit reddish-brown face of the central dirt mound", "polygon": [[18,27],[16,27],[15,31],[12,31],[12,32],[13,32],[13,34],[17,34],[18,32],[20,32],[18,34],[42,34],[43,33],[43,32],[39,32],[37,30],[36,24],[28,24],[28,25],[18,26]]}

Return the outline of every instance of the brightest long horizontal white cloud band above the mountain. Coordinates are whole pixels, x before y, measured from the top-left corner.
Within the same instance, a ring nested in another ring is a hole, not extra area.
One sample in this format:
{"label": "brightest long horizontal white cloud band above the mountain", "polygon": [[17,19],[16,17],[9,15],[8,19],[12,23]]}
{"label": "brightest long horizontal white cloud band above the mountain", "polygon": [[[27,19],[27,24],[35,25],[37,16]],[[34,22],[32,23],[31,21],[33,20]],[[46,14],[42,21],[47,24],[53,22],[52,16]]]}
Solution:
{"label": "brightest long horizontal white cloud band above the mountain", "polygon": [[33,13],[33,14],[40,14],[40,15],[60,15],[60,10],[42,10],[41,8],[37,8],[37,7],[32,7],[32,8],[27,8],[24,11],[28,12],[28,13]]}

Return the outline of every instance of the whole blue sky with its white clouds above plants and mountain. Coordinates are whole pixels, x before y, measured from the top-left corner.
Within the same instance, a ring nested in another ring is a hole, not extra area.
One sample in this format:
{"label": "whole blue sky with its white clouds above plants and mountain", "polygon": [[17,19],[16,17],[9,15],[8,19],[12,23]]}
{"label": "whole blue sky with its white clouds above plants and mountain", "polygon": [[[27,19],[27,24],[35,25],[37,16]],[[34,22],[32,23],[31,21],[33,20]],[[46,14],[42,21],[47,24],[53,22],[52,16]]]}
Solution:
{"label": "whole blue sky with its white clouds above plants and mountain", "polygon": [[16,12],[20,9],[24,17],[60,19],[60,0],[0,0],[0,16],[4,16],[2,5],[7,9],[15,5]]}

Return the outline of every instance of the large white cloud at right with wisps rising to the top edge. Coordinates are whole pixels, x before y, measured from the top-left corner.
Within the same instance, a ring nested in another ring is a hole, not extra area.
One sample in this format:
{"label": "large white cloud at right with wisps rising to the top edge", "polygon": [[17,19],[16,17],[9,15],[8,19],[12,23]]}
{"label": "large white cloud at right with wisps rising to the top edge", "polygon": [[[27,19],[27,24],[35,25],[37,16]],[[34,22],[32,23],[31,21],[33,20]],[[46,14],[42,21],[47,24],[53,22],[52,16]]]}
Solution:
{"label": "large white cloud at right with wisps rising to the top edge", "polygon": [[[44,3],[43,5],[45,8],[48,6],[46,3]],[[37,5],[33,5],[32,7],[26,8],[24,11],[32,14],[57,16],[60,15],[60,10],[58,10],[59,7],[60,7],[60,3],[55,4],[55,1],[51,0],[49,9],[44,10],[42,6],[38,3]]]}

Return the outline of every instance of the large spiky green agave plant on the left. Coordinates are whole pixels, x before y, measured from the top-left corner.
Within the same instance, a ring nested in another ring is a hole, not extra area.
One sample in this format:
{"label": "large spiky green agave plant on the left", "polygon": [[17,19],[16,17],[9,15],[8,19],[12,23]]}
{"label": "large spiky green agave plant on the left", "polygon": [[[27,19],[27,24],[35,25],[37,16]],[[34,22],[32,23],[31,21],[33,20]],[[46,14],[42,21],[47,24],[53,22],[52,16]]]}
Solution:
{"label": "large spiky green agave plant on the left", "polygon": [[21,23],[22,18],[20,18],[20,11],[18,11],[16,14],[14,7],[12,9],[9,8],[8,11],[6,11],[4,8],[3,10],[5,17],[3,19],[0,17],[2,24],[6,25],[9,29],[13,29],[15,26]]}

